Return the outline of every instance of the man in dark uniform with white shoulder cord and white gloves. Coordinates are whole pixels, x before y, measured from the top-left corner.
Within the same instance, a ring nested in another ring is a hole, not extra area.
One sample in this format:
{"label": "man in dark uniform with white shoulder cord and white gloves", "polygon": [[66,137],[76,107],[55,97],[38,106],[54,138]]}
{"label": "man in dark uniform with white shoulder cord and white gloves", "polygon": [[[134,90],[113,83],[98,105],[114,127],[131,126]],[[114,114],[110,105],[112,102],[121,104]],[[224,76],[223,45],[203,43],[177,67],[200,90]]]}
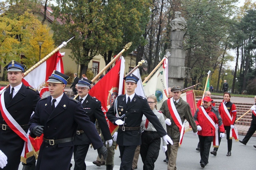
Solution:
{"label": "man in dark uniform with white shoulder cord and white gloves", "polygon": [[131,170],[134,152],[137,146],[141,145],[140,124],[143,114],[153,124],[159,136],[163,137],[166,143],[172,144],[172,140],[163,129],[157,116],[148,106],[147,99],[135,93],[139,78],[130,74],[124,79],[126,80],[126,94],[115,98],[114,104],[106,115],[114,125],[119,125],[116,143],[120,150],[120,170]]}

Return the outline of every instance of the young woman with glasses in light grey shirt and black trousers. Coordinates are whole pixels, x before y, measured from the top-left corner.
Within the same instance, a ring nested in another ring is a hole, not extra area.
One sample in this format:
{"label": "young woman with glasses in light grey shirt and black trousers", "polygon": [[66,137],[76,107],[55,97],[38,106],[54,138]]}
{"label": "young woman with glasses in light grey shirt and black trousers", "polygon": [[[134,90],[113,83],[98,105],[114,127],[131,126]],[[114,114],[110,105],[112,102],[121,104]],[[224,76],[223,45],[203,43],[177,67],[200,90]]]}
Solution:
{"label": "young woman with glasses in light grey shirt and black trousers", "polygon": [[[165,118],[163,118],[163,114],[160,111],[156,110],[156,104],[157,104],[156,96],[154,95],[148,96],[147,103],[150,106],[151,110],[155,113],[159,122],[161,123],[161,125],[166,131]],[[144,164],[143,169],[153,170],[155,167],[154,163],[159,155],[161,137],[157,133],[154,126],[146,119],[145,115],[143,115],[142,117],[141,129],[142,129],[142,134],[141,134],[140,155],[141,155],[142,162]],[[163,152],[167,151],[167,146],[165,141],[163,141],[162,149],[163,149]]]}

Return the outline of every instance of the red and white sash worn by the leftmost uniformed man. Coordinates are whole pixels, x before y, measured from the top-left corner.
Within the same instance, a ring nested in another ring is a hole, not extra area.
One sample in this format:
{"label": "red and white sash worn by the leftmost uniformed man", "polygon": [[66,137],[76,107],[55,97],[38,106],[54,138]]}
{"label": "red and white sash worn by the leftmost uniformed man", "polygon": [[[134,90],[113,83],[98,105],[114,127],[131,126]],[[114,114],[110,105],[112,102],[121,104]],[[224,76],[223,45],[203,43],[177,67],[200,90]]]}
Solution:
{"label": "red and white sash worn by the leftmost uniformed man", "polygon": [[1,111],[4,121],[20,138],[22,138],[25,141],[24,148],[23,148],[22,155],[21,155],[21,160],[26,163],[26,158],[33,155],[33,148],[32,148],[31,142],[28,137],[29,131],[26,134],[26,132],[23,130],[23,128],[20,127],[20,125],[13,119],[11,114],[5,108],[4,93],[2,93],[0,97],[1,97],[0,111]]}

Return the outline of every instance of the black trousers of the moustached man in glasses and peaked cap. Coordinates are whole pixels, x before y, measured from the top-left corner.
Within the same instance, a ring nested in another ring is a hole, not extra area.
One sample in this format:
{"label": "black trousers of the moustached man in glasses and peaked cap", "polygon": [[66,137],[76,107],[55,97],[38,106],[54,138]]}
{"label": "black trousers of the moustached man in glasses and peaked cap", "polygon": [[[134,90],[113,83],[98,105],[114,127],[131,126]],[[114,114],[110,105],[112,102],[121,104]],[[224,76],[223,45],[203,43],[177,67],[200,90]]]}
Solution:
{"label": "black trousers of the moustached man in glasses and peaked cap", "polygon": [[90,144],[74,145],[74,170],[86,170],[85,157]]}

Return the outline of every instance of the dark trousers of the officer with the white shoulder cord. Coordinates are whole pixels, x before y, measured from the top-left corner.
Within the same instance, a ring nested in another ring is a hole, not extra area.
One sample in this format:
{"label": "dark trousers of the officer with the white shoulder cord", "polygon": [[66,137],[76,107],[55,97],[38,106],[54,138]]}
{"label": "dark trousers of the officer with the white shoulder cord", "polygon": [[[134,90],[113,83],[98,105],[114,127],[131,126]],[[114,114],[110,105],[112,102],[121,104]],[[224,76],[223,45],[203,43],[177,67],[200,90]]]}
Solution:
{"label": "dark trousers of the officer with the white shoulder cord", "polygon": [[119,146],[120,157],[121,157],[121,165],[120,170],[131,170],[132,169],[132,161],[134,157],[135,150],[137,145],[134,146]]}

